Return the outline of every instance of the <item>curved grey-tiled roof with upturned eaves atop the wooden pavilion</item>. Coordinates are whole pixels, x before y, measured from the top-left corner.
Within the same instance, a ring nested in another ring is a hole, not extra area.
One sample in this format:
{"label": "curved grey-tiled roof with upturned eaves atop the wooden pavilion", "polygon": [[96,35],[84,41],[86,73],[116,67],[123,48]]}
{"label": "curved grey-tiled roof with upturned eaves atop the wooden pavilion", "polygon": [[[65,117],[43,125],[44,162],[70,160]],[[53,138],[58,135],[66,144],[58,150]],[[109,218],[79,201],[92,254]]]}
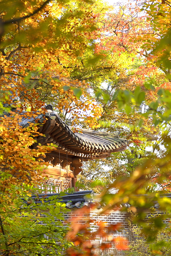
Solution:
{"label": "curved grey-tiled roof with upturned eaves atop the wooden pavilion", "polygon": [[[35,115],[37,112],[18,112],[23,117],[20,120],[20,125],[26,127],[30,123],[38,122],[40,123],[39,132],[46,135],[46,137],[35,137],[37,143],[33,145],[33,148],[39,143],[41,145],[54,143],[58,146],[56,151],[59,152],[60,150],[61,154],[67,153],[77,157],[84,157],[84,159],[101,159],[110,156],[112,152],[123,151],[127,147],[127,140],[120,138],[120,132],[101,132],[68,126],[52,111],[51,105],[47,105],[45,115],[38,114],[37,117],[30,117],[31,113]],[[29,117],[27,117],[27,113],[29,113]],[[45,119],[46,123],[44,123]]]}

